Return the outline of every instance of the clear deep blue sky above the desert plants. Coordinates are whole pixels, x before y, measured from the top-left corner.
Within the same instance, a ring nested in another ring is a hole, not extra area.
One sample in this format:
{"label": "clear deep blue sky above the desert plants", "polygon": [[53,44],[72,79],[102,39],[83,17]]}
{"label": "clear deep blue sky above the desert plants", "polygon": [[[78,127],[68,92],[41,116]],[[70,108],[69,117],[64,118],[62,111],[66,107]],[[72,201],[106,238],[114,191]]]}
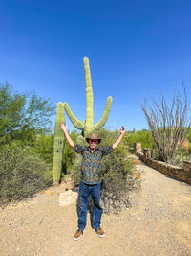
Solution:
{"label": "clear deep blue sky above the desert plants", "polygon": [[181,79],[191,96],[191,1],[0,1],[0,83],[67,102],[83,121],[84,56],[95,123],[111,95],[108,128],[148,128],[138,100],[170,99]]}

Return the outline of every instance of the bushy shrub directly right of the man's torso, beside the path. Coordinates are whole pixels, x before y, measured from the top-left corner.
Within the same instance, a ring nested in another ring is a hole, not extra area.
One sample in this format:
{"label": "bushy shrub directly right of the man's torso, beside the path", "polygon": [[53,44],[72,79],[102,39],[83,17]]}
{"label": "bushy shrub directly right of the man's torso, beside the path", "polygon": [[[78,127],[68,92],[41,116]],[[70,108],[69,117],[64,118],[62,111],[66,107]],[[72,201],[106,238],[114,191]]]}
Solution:
{"label": "bushy shrub directly right of the man's torso, beside the path", "polygon": [[102,160],[101,200],[105,213],[118,213],[129,206],[128,191],[132,190],[130,185],[133,184],[128,182],[128,177],[134,174],[134,163],[126,156],[127,151],[121,145]]}

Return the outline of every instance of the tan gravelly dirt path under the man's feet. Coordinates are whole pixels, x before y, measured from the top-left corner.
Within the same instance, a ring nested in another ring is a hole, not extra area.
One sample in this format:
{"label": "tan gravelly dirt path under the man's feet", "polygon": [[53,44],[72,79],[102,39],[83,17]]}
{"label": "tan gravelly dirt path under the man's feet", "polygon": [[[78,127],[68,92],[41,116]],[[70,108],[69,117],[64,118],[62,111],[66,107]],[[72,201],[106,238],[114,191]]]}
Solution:
{"label": "tan gravelly dirt path under the man's feet", "polygon": [[0,255],[191,255],[191,186],[143,164],[138,170],[142,191],[132,194],[132,208],[103,215],[105,238],[88,218],[83,237],[73,240],[75,205],[58,206],[60,187],[0,211]]}

